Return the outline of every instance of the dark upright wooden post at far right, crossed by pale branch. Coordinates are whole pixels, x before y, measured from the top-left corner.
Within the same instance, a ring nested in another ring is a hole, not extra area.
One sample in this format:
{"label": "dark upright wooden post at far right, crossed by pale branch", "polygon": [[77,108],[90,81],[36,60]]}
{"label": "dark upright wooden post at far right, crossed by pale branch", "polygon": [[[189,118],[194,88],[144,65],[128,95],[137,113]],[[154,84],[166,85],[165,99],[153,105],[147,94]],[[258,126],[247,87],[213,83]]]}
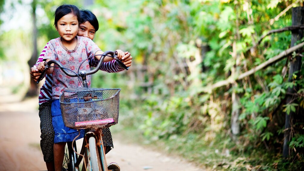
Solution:
{"label": "dark upright wooden post at far right, crossed by pale branch", "polygon": [[[292,25],[302,25],[304,24],[304,7],[295,7],[292,9]],[[298,30],[293,30],[292,31],[292,36],[291,36],[291,46],[295,46],[295,43],[297,43],[298,40],[302,39],[303,37],[303,30],[298,29]],[[302,57],[301,56],[295,56],[292,60],[290,60],[290,68],[289,68],[289,74],[288,74],[288,82],[294,81],[293,79],[293,74],[297,71],[300,71],[301,69],[301,63],[302,63]],[[299,78],[299,72],[295,73],[297,74],[297,78]],[[297,103],[294,101],[294,99],[297,99],[292,96],[298,90],[298,87],[292,87],[288,88],[287,90],[287,100],[286,104],[291,104],[291,103]],[[290,125],[292,123],[292,118],[295,112],[290,111],[290,113],[285,114],[285,132],[284,132],[284,144],[283,144],[283,157],[287,158],[289,156],[289,147],[288,147],[288,142],[291,139],[291,129]]]}

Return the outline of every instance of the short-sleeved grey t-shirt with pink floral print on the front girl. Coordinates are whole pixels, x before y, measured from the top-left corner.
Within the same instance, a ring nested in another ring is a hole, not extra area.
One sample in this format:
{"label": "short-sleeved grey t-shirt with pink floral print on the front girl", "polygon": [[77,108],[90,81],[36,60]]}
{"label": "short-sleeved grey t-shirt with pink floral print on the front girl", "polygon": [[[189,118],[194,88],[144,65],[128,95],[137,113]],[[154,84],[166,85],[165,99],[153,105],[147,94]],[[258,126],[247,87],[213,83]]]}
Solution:
{"label": "short-sleeved grey t-shirt with pink floral print on the front girl", "polygon": [[[51,59],[59,61],[65,68],[77,73],[78,68],[83,60],[89,56],[94,55],[98,50],[98,46],[89,38],[83,36],[76,36],[77,45],[73,50],[68,50],[63,46],[61,37],[52,39],[47,43],[47,50],[43,60]],[[55,65],[56,66],[56,65]],[[79,71],[90,71],[90,64],[88,60],[82,63]],[[69,71],[71,72],[71,71]],[[78,77],[70,77],[64,74],[58,67],[53,70],[53,85],[52,85],[52,99],[59,99],[60,95],[67,89],[81,87],[82,82]],[[88,87],[91,85],[91,77],[87,76]]]}

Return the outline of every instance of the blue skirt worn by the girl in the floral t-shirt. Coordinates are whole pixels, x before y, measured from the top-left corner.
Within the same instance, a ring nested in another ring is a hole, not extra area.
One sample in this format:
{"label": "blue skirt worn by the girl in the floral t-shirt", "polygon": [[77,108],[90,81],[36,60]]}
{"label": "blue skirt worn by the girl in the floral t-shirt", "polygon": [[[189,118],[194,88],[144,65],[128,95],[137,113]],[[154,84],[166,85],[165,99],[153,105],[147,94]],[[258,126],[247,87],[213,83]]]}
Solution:
{"label": "blue skirt worn by the girl in the floral t-shirt", "polygon": [[[78,135],[78,130],[68,128],[64,125],[59,99],[53,100],[52,102],[52,123],[55,132],[54,143],[58,142],[70,142]],[[80,129],[80,136],[77,139],[83,138],[85,135],[85,130]],[[76,140],[77,140],[76,139]]]}

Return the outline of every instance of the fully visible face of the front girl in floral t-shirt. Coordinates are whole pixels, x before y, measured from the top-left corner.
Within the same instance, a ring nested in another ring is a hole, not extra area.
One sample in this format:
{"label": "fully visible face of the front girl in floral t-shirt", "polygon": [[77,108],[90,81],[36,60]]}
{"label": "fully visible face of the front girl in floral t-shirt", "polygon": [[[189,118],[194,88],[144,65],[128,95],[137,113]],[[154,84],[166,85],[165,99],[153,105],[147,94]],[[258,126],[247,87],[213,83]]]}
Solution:
{"label": "fully visible face of the front girl in floral t-shirt", "polygon": [[79,25],[77,17],[73,14],[67,14],[61,17],[58,20],[56,27],[59,35],[67,42],[73,40],[76,37],[78,28]]}

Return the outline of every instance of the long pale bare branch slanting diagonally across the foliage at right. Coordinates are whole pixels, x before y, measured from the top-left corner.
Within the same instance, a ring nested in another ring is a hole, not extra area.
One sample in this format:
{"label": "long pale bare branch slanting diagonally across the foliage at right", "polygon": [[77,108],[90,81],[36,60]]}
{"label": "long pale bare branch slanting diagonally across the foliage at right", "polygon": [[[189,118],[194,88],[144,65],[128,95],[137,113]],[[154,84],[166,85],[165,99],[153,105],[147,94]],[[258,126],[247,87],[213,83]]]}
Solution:
{"label": "long pale bare branch slanting diagonally across the foliage at right", "polygon": [[296,46],[293,46],[283,52],[281,52],[280,54],[278,54],[277,56],[275,57],[272,57],[271,59],[265,61],[264,63],[261,63],[260,65],[258,65],[257,67],[254,67],[252,68],[251,70],[247,71],[247,72],[244,72],[242,74],[240,74],[239,76],[237,77],[229,77],[227,78],[226,80],[222,80],[222,81],[219,81],[213,85],[211,85],[211,87],[208,87],[206,89],[204,89],[204,92],[211,92],[213,89],[215,88],[218,88],[218,87],[222,87],[224,85],[228,85],[228,84],[231,84],[233,83],[233,81],[236,81],[236,80],[240,80],[240,79],[243,79],[244,77],[247,77],[251,74],[254,74],[255,72],[257,72],[258,70],[261,70],[263,69],[264,67],[267,67],[268,65],[282,59],[283,57],[291,54],[292,52],[296,51],[296,50],[299,50],[300,48],[302,48],[304,46],[304,42],[296,45]]}

